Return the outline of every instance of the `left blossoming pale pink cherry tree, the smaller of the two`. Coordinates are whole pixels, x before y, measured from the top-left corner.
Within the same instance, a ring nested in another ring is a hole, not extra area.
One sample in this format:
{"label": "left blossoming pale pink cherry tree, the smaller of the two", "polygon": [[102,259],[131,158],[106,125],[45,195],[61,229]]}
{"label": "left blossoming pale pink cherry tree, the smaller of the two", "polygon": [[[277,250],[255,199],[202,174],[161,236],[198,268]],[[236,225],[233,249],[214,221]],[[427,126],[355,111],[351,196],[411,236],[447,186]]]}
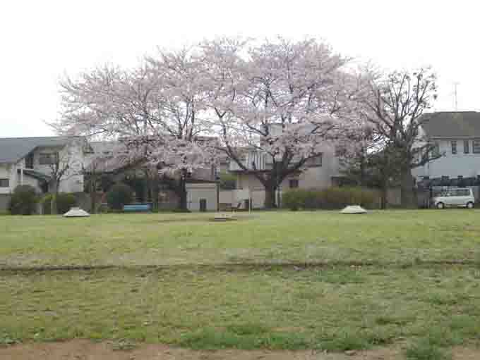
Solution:
{"label": "left blossoming pale pink cherry tree, the smaller of the two", "polygon": [[[143,163],[148,183],[176,178],[180,207],[186,209],[186,177],[193,168],[210,166],[212,146],[197,141],[205,130],[201,77],[190,51],[160,52],[142,66],[122,70],[104,66],[61,82],[61,133],[118,139],[131,163]],[[204,152],[205,150],[205,152]],[[149,175],[149,176],[150,176]],[[152,180],[152,181],[150,181]],[[173,182],[175,183],[175,182]]]}

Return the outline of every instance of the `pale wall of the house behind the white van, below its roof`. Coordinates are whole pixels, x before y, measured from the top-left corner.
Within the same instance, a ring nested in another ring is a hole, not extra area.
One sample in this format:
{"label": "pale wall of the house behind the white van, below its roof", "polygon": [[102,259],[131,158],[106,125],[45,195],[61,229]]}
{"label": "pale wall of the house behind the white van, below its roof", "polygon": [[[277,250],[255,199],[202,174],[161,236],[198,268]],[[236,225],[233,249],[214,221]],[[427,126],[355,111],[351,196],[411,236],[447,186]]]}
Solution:
{"label": "pale wall of the house behind the white van, below its roof", "polygon": [[469,140],[469,154],[464,154],[463,139],[457,139],[457,154],[452,154],[451,139],[439,140],[438,144],[440,154],[445,153],[445,155],[412,170],[415,177],[457,178],[462,175],[464,178],[471,178],[480,174],[480,154],[472,153],[472,140]]}

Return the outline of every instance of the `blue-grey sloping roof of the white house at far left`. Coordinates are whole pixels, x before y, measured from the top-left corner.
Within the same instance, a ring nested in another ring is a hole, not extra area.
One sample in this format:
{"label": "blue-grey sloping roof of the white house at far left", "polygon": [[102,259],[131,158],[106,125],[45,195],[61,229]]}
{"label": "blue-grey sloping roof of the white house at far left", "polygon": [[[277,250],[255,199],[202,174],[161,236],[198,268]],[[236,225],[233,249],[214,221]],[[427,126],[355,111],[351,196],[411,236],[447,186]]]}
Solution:
{"label": "blue-grey sloping roof of the white house at far left", "polygon": [[68,137],[0,137],[0,163],[17,163],[36,147],[63,147]]}

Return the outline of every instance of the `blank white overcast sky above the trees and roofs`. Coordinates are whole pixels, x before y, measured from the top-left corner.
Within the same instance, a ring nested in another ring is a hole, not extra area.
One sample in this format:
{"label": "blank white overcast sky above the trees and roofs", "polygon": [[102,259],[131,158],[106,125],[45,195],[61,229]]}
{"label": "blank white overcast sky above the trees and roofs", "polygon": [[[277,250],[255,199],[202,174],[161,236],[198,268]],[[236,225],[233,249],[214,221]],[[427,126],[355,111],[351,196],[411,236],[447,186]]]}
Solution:
{"label": "blank white overcast sky above the trees and roofs", "polygon": [[[445,3],[445,5],[444,5]],[[378,66],[431,65],[436,110],[480,110],[476,1],[1,1],[0,137],[53,135],[64,73],[105,62],[133,66],[157,46],[217,35],[325,39]],[[391,4],[391,5],[387,5]]]}

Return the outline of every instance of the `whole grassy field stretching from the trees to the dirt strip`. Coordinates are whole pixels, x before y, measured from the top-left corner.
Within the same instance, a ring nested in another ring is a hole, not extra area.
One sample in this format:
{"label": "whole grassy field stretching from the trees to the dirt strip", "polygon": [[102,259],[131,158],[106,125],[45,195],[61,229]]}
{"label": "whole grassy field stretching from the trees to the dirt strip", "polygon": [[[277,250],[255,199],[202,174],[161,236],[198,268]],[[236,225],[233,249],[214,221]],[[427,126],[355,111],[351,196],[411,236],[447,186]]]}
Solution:
{"label": "whole grassy field stretching from the trees to the dirt strip", "polygon": [[[409,359],[480,345],[480,211],[210,218],[0,217],[0,344],[85,337],[344,351],[405,343]],[[95,269],[105,265],[118,268]],[[33,266],[93,268],[24,269]]]}

